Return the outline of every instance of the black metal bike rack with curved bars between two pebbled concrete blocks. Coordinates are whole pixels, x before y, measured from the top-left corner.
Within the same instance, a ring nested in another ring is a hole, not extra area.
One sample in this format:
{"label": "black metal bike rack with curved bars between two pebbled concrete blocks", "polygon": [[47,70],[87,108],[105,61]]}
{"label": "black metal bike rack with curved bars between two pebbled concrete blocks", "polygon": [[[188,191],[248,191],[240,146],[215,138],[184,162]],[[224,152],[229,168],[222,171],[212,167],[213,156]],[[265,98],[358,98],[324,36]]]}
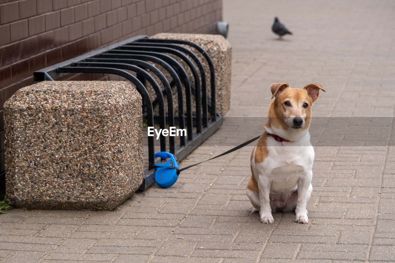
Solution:
{"label": "black metal bike rack with curved bars between two pebbled concrete blocks", "polygon": [[[207,61],[210,74],[211,98],[207,100],[207,81],[203,64],[199,57],[184,45],[193,47]],[[176,56],[186,64],[192,72],[191,83],[188,70],[173,57]],[[160,65],[166,70],[173,81],[169,83],[166,76],[153,64]],[[136,76],[125,71],[132,71]],[[162,83],[164,90],[150,75],[152,72]],[[169,152],[178,160],[198,147],[222,125],[222,116],[215,110],[215,74],[214,65],[207,52],[196,43],[174,39],[150,39],[147,36],[136,36],[122,42],[104,47],[97,51],[77,56],[70,60],[34,72],[34,83],[54,81],[70,73],[104,73],[115,74],[128,79],[141,94],[143,99],[143,117],[148,126],[158,123],[161,129],[179,125],[185,128],[187,135],[180,137],[179,145],[175,145],[174,137],[169,136]],[[156,94],[156,100],[151,101],[146,83],[149,83]],[[183,88],[185,88],[186,109],[184,109]],[[174,116],[172,88],[177,90],[178,116]],[[192,95],[196,101],[193,114]],[[165,112],[164,96],[167,97],[167,115]],[[154,106],[158,105],[158,116],[154,116]],[[194,132],[194,126],[196,131]],[[149,168],[144,171],[144,182],[139,190],[144,190],[154,182],[154,137],[148,137]],[[160,136],[160,151],[166,151],[166,138]]]}

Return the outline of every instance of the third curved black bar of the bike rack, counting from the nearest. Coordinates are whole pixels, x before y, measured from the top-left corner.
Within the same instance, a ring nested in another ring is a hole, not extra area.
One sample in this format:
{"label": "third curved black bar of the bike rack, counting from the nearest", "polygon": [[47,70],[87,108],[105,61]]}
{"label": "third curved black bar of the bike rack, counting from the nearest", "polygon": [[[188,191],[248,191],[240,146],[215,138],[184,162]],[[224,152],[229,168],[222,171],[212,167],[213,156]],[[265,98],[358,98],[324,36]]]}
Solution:
{"label": "third curved black bar of the bike rack, counting from the nearest", "polygon": [[[122,63],[122,64],[132,64],[135,66],[147,68],[152,71],[156,76],[158,76],[159,80],[163,83],[163,86],[166,90],[167,96],[167,118],[169,121],[169,129],[174,126],[174,112],[173,112],[173,94],[171,92],[171,87],[166,77],[163,75],[158,68],[149,64],[148,62],[136,59],[111,59],[111,58],[87,58],[85,59],[87,62],[103,62],[103,63]],[[169,151],[170,153],[175,153],[175,142],[174,136],[169,136]]]}

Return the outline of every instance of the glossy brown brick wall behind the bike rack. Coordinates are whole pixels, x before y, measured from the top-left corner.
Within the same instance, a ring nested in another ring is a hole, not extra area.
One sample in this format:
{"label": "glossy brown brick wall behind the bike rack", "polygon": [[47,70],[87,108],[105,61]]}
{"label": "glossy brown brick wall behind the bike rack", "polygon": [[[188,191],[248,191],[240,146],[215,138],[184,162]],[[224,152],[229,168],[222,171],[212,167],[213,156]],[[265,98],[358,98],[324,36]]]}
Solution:
{"label": "glossy brown brick wall behind the bike rack", "polygon": [[34,71],[132,36],[213,34],[217,21],[222,0],[0,0],[0,174],[3,104]]}

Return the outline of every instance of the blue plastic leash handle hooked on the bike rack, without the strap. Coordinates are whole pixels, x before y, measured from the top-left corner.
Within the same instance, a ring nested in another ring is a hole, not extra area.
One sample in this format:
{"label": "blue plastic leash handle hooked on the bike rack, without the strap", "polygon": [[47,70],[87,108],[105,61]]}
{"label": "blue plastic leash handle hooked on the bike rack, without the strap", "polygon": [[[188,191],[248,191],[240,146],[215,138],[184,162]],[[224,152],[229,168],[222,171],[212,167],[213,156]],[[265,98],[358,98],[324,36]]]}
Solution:
{"label": "blue plastic leash handle hooked on the bike rack, without the strap", "polygon": [[157,152],[154,158],[170,158],[166,163],[155,163],[155,182],[162,188],[172,186],[178,179],[180,165],[175,156],[169,152]]}

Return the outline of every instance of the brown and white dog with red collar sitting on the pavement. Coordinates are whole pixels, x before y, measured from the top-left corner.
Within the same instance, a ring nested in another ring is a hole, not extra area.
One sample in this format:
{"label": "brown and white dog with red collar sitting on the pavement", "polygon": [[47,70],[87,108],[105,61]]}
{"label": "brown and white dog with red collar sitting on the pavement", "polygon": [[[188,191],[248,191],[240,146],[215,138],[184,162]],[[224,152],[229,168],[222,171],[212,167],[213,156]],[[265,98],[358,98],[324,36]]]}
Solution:
{"label": "brown and white dog with red collar sitting on the pavement", "polygon": [[274,83],[270,89],[275,100],[269,105],[265,133],[251,153],[252,176],[246,193],[262,223],[274,222],[272,211],[295,211],[296,222],[305,224],[313,190],[314,149],[308,133],[311,105],[319,91],[325,90],[321,84],[299,89],[288,83]]}

